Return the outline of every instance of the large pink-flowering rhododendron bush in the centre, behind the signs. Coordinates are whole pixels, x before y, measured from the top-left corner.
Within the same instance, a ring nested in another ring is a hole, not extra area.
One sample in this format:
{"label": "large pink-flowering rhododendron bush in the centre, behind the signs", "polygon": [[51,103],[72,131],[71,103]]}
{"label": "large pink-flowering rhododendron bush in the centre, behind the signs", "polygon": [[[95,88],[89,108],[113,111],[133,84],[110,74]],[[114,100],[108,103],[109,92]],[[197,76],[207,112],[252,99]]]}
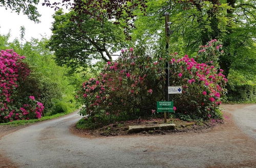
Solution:
{"label": "large pink-flowering rhododendron bush in the centre, behind the signs", "polygon": [[[223,51],[216,47],[219,46],[216,42],[210,42],[215,46],[210,46],[211,49],[201,47],[200,54],[221,54]],[[133,48],[121,52],[121,57],[108,62],[98,77],[82,84],[77,96],[84,104],[81,115],[90,115],[94,120],[99,116],[154,115],[156,101],[164,100],[165,62],[168,61],[170,86],[182,86],[182,94],[170,95],[175,113],[191,119],[221,117],[219,106],[226,93],[227,79],[214,62],[199,63],[177,53],[156,59],[137,55]]]}

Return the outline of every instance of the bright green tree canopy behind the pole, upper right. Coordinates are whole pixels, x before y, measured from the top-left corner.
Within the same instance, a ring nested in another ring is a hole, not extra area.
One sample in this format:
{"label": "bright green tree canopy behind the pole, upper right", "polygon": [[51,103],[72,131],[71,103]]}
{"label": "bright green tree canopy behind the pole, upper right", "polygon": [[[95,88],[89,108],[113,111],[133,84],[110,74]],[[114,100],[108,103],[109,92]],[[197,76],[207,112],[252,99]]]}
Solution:
{"label": "bright green tree canopy behind the pole, upper right", "polygon": [[[198,46],[210,39],[223,42],[225,54],[219,65],[255,77],[255,1],[166,1],[147,2],[146,15],[138,11],[133,40],[148,53],[164,54],[164,16],[170,13],[170,52],[195,56]],[[161,57],[161,56],[160,56]],[[248,70],[248,71],[247,71]]]}

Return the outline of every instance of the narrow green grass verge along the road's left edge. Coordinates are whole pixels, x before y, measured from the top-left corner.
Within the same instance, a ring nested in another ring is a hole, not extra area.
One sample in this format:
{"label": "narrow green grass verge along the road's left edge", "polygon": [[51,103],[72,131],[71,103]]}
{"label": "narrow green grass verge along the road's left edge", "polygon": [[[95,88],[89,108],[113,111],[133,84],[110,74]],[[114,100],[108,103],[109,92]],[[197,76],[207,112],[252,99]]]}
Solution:
{"label": "narrow green grass verge along the road's left edge", "polygon": [[42,117],[40,119],[32,119],[32,120],[18,120],[18,121],[12,121],[12,122],[8,122],[8,123],[0,123],[0,125],[10,125],[10,126],[19,126],[19,125],[28,125],[28,124],[32,124],[32,123],[36,123],[36,122],[41,122],[41,121],[45,121],[45,120],[51,120],[51,119],[55,119],[58,117],[62,117],[68,114],[71,114],[75,111],[75,108],[70,108],[68,109],[68,111],[66,113],[58,113],[52,116],[45,116]]}

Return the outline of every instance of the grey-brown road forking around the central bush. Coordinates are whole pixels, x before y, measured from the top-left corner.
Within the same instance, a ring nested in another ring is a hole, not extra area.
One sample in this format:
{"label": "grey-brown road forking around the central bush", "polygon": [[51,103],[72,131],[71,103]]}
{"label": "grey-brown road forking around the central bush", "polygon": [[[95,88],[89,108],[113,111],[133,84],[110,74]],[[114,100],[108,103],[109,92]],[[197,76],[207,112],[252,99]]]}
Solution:
{"label": "grey-brown road forking around the central bush", "polygon": [[72,114],[5,135],[0,150],[19,167],[256,167],[256,105],[224,108],[226,124],[206,132],[94,138],[70,133]]}

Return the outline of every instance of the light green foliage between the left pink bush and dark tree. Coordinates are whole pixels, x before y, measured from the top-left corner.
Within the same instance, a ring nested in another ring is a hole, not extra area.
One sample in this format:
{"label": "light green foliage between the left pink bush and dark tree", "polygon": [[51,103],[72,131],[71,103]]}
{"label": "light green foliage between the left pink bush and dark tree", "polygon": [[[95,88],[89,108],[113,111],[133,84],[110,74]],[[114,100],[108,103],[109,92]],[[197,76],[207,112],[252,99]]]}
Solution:
{"label": "light green foliage between the left pink bush and dark tree", "polygon": [[76,107],[73,96],[75,87],[82,82],[82,74],[72,74],[68,68],[57,66],[53,53],[46,47],[47,39],[32,39],[21,44],[17,39],[8,43],[8,38],[9,35],[0,36],[1,49],[14,48],[20,55],[26,55],[26,61],[32,68],[31,75],[17,90],[18,97],[34,95],[45,105],[45,115],[55,113],[54,104],[60,101]]}

